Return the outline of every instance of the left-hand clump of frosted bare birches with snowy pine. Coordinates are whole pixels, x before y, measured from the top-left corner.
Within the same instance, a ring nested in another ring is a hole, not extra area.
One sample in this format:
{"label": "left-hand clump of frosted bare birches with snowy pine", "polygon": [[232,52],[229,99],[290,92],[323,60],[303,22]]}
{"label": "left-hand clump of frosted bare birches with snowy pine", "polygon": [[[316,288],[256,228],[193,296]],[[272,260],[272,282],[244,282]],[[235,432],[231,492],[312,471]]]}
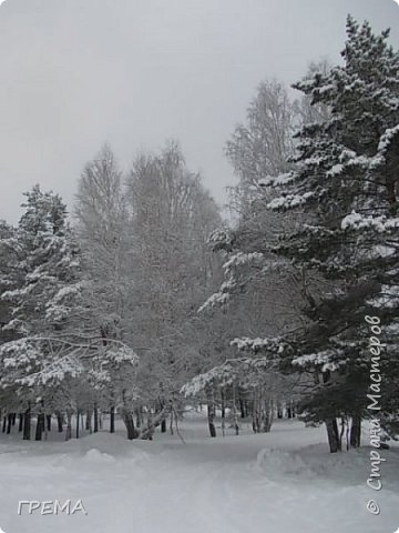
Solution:
{"label": "left-hand clump of frosted bare birches with snowy pine", "polygon": [[[202,348],[196,308],[214,283],[207,234],[221,223],[175,143],[122,175],[105,145],[84,168],[74,217],[39,185],[18,227],[1,227],[1,406],[35,439],[101,413],[129,439],[151,439]],[[145,418],[145,420],[144,420]],[[48,421],[45,423],[45,421]],[[7,426],[11,431],[12,423]]]}

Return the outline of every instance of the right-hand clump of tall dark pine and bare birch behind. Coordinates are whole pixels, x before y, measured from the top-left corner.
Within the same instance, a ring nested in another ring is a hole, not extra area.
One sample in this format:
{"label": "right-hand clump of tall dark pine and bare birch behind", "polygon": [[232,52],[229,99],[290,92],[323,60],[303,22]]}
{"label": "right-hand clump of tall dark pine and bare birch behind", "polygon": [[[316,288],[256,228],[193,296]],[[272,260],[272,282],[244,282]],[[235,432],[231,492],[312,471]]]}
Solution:
{"label": "right-hand clump of tall dark pine and bare birch behind", "polygon": [[[399,54],[389,32],[376,36],[367,22],[349,17],[347,36],[341,66],[313,66],[294,86],[299,104],[289,103],[279,84],[262,84],[247,125],[227,144],[242,212],[233,231],[211,239],[227,261],[221,290],[203,309],[234,306],[243,291],[250,299],[263,288],[275,312],[282,305],[290,312],[279,324],[265,322],[257,338],[232,339],[246,355],[187,389],[211,379],[222,386],[237,375],[255,386],[255,369],[264,380],[276,369],[297,376],[298,408],[305,420],[326,424],[331,452],[347,433],[348,447],[360,445],[370,394],[380,401],[381,436],[397,438],[399,420],[392,386],[399,378]],[[380,323],[381,384],[370,382],[365,316]]]}

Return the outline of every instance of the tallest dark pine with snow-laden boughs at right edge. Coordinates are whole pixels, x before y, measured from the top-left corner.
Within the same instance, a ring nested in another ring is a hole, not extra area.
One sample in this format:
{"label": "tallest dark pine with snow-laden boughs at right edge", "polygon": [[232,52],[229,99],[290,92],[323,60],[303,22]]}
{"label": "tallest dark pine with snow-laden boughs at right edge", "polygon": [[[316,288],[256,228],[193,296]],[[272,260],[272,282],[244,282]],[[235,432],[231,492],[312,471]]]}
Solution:
{"label": "tallest dark pine with snow-laden boughs at right edge", "polygon": [[398,379],[399,54],[387,42],[389,32],[375,36],[367,22],[349,17],[347,34],[342,66],[295,86],[330,115],[298,133],[289,179],[263,180],[280,187],[267,209],[305,213],[310,222],[259,251],[315,273],[325,293],[304,288],[307,323],[294,334],[236,343],[287,358],[314,376],[303,409],[326,422],[331,452],[339,447],[338,416],[352,421],[351,445],[360,442],[370,384],[366,315],[381,322],[381,404],[397,415],[390,383]]}

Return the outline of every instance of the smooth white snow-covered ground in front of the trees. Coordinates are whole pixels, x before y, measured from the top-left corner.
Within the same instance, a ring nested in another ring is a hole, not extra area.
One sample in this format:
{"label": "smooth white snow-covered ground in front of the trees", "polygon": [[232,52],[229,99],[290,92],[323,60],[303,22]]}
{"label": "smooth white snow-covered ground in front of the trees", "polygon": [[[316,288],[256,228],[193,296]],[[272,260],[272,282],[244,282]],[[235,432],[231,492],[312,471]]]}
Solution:
{"label": "smooth white snow-covered ground in front of the trees", "polygon": [[[193,413],[174,435],[129,442],[0,438],[0,527],[6,533],[393,533],[399,450],[383,451],[383,486],[366,485],[369,450],[329,454],[323,428],[278,421],[269,434],[209,439]],[[16,440],[17,439],[17,440]],[[20,500],[82,500],[88,515],[18,515]],[[375,499],[378,516],[366,510]]]}

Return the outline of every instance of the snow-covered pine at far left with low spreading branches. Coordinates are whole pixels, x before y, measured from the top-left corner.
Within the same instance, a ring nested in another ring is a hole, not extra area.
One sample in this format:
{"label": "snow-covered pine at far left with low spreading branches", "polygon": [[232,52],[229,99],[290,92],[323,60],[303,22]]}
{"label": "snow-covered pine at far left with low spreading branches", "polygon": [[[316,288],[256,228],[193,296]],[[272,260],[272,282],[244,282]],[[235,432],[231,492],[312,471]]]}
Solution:
{"label": "snow-covered pine at far left with low spreading branches", "polygon": [[[0,385],[23,399],[27,421],[30,406],[35,406],[37,439],[45,414],[54,412],[66,413],[69,438],[73,412],[76,420],[83,409],[92,413],[104,381],[124,410],[137,356],[110,328],[98,329],[93,286],[83,272],[61,198],[39,185],[25,195],[18,228],[1,241],[9,249],[13,244],[16,255],[10,254],[9,263],[14,269],[2,269],[2,286],[8,290],[1,298],[11,308],[3,329],[17,339],[0,346]],[[112,316],[109,321],[113,323]],[[130,426],[127,431],[132,433]]]}

